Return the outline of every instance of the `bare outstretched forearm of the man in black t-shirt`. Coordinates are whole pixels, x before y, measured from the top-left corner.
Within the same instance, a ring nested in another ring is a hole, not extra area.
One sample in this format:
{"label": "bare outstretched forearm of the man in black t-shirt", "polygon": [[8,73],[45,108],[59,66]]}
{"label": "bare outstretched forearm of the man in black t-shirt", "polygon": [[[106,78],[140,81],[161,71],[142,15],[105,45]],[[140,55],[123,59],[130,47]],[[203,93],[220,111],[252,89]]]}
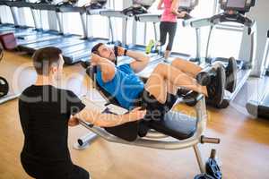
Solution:
{"label": "bare outstretched forearm of the man in black t-shirt", "polygon": [[126,115],[101,114],[98,111],[85,107],[80,113],[74,115],[74,117],[96,126],[113,127],[120,124],[141,120],[143,119],[145,113],[145,110],[140,110],[139,107],[135,108]]}

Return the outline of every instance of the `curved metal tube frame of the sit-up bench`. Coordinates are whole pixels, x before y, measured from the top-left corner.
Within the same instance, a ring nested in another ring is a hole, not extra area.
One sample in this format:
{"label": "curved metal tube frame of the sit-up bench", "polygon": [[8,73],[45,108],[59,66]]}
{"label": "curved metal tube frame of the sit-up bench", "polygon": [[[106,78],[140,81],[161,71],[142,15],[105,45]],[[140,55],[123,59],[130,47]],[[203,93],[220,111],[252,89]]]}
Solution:
{"label": "curved metal tube frame of the sit-up bench", "polygon": [[205,173],[205,165],[204,165],[204,159],[202,158],[201,152],[198,148],[198,144],[200,143],[219,143],[220,141],[218,139],[213,138],[206,138],[203,136],[203,133],[206,129],[206,121],[207,121],[207,115],[206,115],[206,106],[205,106],[205,98],[203,95],[201,95],[200,100],[195,105],[195,119],[196,119],[196,130],[192,137],[179,141],[175,139],[174,141],[168,141],[166,138],[169,136],[162,134],[160,132],[155,132],[153,130],[150,130],[150,132],[147,133],[147,135],[143,138],[138,138],[136,141],[125,141],[122,139],[117,138],[116,136],[106,132],[104,129],[93,126],[91,124],[88,124],[87,122],[84,122],[80,120],[80,124],[91,131],[91,133],[83,136],[81,140],[85,141],[84,145],[81,146],[82,148],[85,147],[85,145],[91,143],[94,141],[97,137],[100,137],[104,139],[105,141],[109,142],[115,142],[115,143],[121,143],[126,145],[133,145],[133,146],[139,146],[144,148],[151,148],[151,149],[168,149],[168,150],[174,150],[174,149],[187,149],[187,148],[193,148],[195,150],[195,158],[197,160],[199,169],[201,173]]}

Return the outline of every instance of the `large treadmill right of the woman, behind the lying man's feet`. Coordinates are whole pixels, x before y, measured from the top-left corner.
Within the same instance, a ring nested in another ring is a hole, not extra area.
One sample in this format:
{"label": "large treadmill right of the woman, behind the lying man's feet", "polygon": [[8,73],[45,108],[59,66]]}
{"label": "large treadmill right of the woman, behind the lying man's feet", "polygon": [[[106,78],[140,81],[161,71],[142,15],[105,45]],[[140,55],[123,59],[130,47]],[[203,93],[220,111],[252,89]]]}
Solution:
{"label": "large treadmill right of the woman, behind the lying man's feet", "polygon": [[[201,66],[206,66],[208,64],[213,64],[215,61],[221,61],[224,66],[228,64],[227,58],[223,57],[211,57],[210,49],[213,47],[212,34],[213,30],[239,30],[247,33],[248,37],[251,39],[249,58],[248,59],[238,59],[238,72],[237,72],[237,85],[233,92],[226,91],[225,98],[220,104],[220,108],[228,107],[230,101],[236,98],[237,94],[247,81],[254,64],[256,64],[256,21],[247,18],[245,13],[250,11],[250,8],[255,6],[256,0],[220,0],[219,2],[221,10],[223,13],[213,15],[211,18],[198,19],[190,21],[189,24],[195,30],[199,30],[202,27],[210,27],[207,47],[205,57],[201,57],[201,53],[197,53],[198,56],[195,57],[194,62],[200,64]],[[233,24],[229,23],[232,22]],[[236,24],[236,25],[235,25]],[[201,39],[196,36],[197,40],[197,50],[201,50]]]}

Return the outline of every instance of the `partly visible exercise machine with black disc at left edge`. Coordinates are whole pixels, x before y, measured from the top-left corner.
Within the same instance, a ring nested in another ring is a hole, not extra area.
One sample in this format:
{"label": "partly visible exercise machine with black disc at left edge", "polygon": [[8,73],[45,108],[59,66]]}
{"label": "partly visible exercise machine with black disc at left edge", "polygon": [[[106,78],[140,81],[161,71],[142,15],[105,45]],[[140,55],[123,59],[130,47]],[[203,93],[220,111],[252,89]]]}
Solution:
{"label": "partly visible exercise machine with black disc at left edge", "polygon": [[[4,57],[4,50],[0,46],[0,62]],[[20,94],[14,94],[10,92],[10,86],[8,82],[4,79],[4,77],[0,76],[0,104],[12,100],[14,98],[18,98]]]}

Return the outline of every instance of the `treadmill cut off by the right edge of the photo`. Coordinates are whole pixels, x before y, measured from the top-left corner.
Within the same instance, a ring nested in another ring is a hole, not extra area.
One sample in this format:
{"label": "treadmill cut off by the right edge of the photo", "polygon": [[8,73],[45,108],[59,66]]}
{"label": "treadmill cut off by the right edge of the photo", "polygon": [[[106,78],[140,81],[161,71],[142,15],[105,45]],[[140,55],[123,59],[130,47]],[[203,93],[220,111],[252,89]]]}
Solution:
{"label": "treadmill cut off by the right edge of the photo", "polygon": [[247,112],[256,117],[269,119],[269,30],[262,65],[262,78],[259,79],[257,92],[247,102]]}

